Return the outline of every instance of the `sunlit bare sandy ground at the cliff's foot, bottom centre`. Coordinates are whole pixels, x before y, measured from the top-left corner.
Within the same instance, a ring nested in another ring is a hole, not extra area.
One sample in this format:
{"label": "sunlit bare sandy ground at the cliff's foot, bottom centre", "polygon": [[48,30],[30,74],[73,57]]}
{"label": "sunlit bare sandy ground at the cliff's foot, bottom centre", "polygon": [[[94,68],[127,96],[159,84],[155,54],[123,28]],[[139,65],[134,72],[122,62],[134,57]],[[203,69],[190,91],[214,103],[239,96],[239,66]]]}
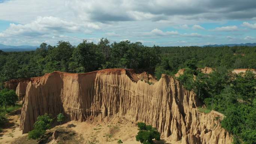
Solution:
{"label": "sunlit bare sandy ground at the cliff's foot, bottom centre", "polygon": [[[118,140],[122,140],[124,144],[140,144],[135,140],[138,129],[132,123],[97,123],[88,122],[68,122],[61,127],[70,127],[78,135],[83,137],[83,144],[117,144]],[[156,144],[180,144],[179,142],[171,142],[162,139],[155,142]]]}

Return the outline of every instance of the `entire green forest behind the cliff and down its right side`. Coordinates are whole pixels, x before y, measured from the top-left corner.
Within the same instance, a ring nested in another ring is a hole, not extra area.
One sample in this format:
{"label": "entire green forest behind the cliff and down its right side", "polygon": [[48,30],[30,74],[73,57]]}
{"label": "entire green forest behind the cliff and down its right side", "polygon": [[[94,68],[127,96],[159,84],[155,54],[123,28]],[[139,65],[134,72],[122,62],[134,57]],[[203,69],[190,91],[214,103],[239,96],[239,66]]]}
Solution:
{"label": "entire green forest behind the cliff and down its right side", "polygon": [[[210,74],[198,68],[212,67]],[[0,51],[0,83],[42,76],[53,71],[85,73],[106,68],[132,68],[155,74],[185,73],[177,79],[193,90],[206,108],[225,114],[222,126],[234,135],[235,144],[256,144],[256,76],[252,71],[234,74],[235,68],[256,68],[256,47],[159,47],[129,41],[97,44],[84,40],[77,46],[60,41],[42,43],[35,51]]]}

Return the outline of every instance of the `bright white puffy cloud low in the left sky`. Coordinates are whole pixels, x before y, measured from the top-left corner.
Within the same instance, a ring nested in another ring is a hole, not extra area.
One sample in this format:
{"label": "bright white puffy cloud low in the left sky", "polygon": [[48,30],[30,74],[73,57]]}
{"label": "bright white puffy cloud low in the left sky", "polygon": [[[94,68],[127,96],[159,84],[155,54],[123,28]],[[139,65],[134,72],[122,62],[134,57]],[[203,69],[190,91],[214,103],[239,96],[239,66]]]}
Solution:
{"label": "bright white puffy cloud low in the left sky", "polygon": [[64,21],[56,17],[38,17],[35,21],[32,21],[28,24],[10,24],[1,36],[10,37],[10,36],[29,36],[36,37],[42,36],[45,34],[58,34],[58,33],[91,33],[92,31],[87,30],[86,28],[99,29],[100,27],[95,24],[76,24],[74,22]]}

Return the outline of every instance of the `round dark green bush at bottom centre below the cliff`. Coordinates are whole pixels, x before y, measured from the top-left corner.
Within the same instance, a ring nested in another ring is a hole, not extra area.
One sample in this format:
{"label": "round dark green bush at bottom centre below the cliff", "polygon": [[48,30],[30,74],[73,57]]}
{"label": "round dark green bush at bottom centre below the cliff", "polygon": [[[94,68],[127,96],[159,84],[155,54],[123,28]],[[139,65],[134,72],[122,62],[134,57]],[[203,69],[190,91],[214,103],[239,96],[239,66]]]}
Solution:
{"label": "round dark green bush at bottom centre below the cliff", "polygon": [[136,135],[136,141],[142,144],[153,144],[153,139],[160,140],[160,133],[151,125],[145,123],[138,123],[139,132]]}

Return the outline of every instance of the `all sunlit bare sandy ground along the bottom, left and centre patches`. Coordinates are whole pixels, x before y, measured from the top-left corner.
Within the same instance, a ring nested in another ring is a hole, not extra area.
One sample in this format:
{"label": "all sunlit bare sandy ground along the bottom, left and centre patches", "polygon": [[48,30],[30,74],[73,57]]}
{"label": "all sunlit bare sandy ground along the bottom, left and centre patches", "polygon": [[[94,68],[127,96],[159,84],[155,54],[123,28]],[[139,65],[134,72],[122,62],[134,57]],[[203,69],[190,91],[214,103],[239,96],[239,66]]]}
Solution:
{"label": "all sunlit bare sandy ground along the bottom, left and centre patches", "polygon": [[[27,141],[27,134],[22,134],[18,128],[18,119],[20,110],[16,113],[9,114],[8,128],[3,129],[0,133],[0,144],[36,144],[36,141]],[[131,122],[125,120],[113,119],[109,122],[91,123],[91,122],[67,122],[61,126],[48,131],[55,131],[55,129],[65,129],[67,131],[76,132],[80,139],[81,144],[117,144],[120,139],[124,144],[140,144],[135,140],[138,132],[137,127]],[[24,142],[25,141],[25,142]],[[180,142],[171,142],[164,140],[155,141],[156,144],[180,144]],[[56,140],[51,141],[49,144],[57,144]]]}

